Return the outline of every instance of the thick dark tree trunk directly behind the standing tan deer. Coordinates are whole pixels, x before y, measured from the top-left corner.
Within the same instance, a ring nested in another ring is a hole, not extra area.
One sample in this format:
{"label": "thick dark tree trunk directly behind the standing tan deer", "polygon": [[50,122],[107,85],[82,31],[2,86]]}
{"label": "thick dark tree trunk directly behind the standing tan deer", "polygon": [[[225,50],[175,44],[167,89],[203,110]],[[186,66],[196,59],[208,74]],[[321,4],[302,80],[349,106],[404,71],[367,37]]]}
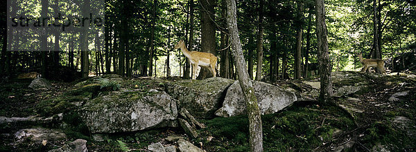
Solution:
{"label": "thick dark tree trunk directly behind the standing tan deer", "polygon": [[[201,52],[216,55],[214,6],[216,0],[203,0],[201,3]],[[207,68],[201,68],[197,79],[212,77],[212,73]]]}

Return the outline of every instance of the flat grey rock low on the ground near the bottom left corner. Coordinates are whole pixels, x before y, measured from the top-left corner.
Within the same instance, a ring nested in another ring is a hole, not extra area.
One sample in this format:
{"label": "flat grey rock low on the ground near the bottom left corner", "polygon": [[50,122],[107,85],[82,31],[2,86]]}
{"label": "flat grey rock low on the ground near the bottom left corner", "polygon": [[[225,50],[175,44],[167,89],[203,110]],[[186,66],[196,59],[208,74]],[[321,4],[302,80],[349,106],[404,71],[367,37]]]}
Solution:
{"label": "flat grey rock low on the ground near the bottom left corner", "polygon": [[34,129],[21,129],[15,133],[15,137],[18,140],[17,142],[23,141],[25,137],[31,137],[30,139],[33,142],[41,144],[44,140],[46,140],[46,142],[64,140],[67,135],[58,129],[44,129],[38,127]]}

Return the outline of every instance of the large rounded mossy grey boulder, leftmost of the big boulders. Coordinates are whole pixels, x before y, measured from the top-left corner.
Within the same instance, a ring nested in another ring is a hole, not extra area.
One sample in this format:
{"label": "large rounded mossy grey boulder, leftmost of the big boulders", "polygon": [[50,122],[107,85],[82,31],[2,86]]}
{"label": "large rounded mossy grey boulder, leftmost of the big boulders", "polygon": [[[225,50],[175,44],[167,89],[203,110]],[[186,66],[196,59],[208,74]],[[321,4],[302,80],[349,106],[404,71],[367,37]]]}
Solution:
{"label": "large rounded mossy grey boulder, leftmost of the big boulders", "polygon": [[176,102],[164,91],[115,91],[89,100],[80,116],[92,133],[175,126]]}

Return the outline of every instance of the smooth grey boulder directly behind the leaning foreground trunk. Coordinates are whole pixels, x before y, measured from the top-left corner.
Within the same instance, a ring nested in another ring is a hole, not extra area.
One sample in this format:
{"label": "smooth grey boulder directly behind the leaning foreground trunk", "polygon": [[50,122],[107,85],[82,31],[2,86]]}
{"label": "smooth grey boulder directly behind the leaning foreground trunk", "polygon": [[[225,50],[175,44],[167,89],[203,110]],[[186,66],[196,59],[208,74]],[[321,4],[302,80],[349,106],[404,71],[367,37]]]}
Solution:
{"label": "smooth grey boulder directly behind the leaning foreground trunk", "polygon": [[[295,93],[286,91],[272,84],[264,82],[253,82],[254,93],[261,114],[276,113],[281,109],[297,101]],[[221,117],[231,117],[234,115],[245,114],[245,99],[238,81],[229,86],[223,107],[216,111],[216,115]]]}

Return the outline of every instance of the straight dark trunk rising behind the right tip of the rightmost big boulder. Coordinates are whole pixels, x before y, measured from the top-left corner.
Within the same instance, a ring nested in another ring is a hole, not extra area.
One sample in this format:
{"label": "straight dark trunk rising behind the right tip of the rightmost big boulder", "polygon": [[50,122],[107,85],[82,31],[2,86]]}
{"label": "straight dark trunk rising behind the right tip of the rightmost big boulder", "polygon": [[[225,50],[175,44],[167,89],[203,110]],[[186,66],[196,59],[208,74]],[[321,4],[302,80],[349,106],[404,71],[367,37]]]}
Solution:
{"label": "straight dark trunk rising behind the right tip of the rightmost big boulder", "polygon": [[295,79],[302,77],[302,20],[303,20],[303,1],[297,1],[297,18],[299,22],[297,24],[297,41],[296,41],[296,56],[295,56]]}

